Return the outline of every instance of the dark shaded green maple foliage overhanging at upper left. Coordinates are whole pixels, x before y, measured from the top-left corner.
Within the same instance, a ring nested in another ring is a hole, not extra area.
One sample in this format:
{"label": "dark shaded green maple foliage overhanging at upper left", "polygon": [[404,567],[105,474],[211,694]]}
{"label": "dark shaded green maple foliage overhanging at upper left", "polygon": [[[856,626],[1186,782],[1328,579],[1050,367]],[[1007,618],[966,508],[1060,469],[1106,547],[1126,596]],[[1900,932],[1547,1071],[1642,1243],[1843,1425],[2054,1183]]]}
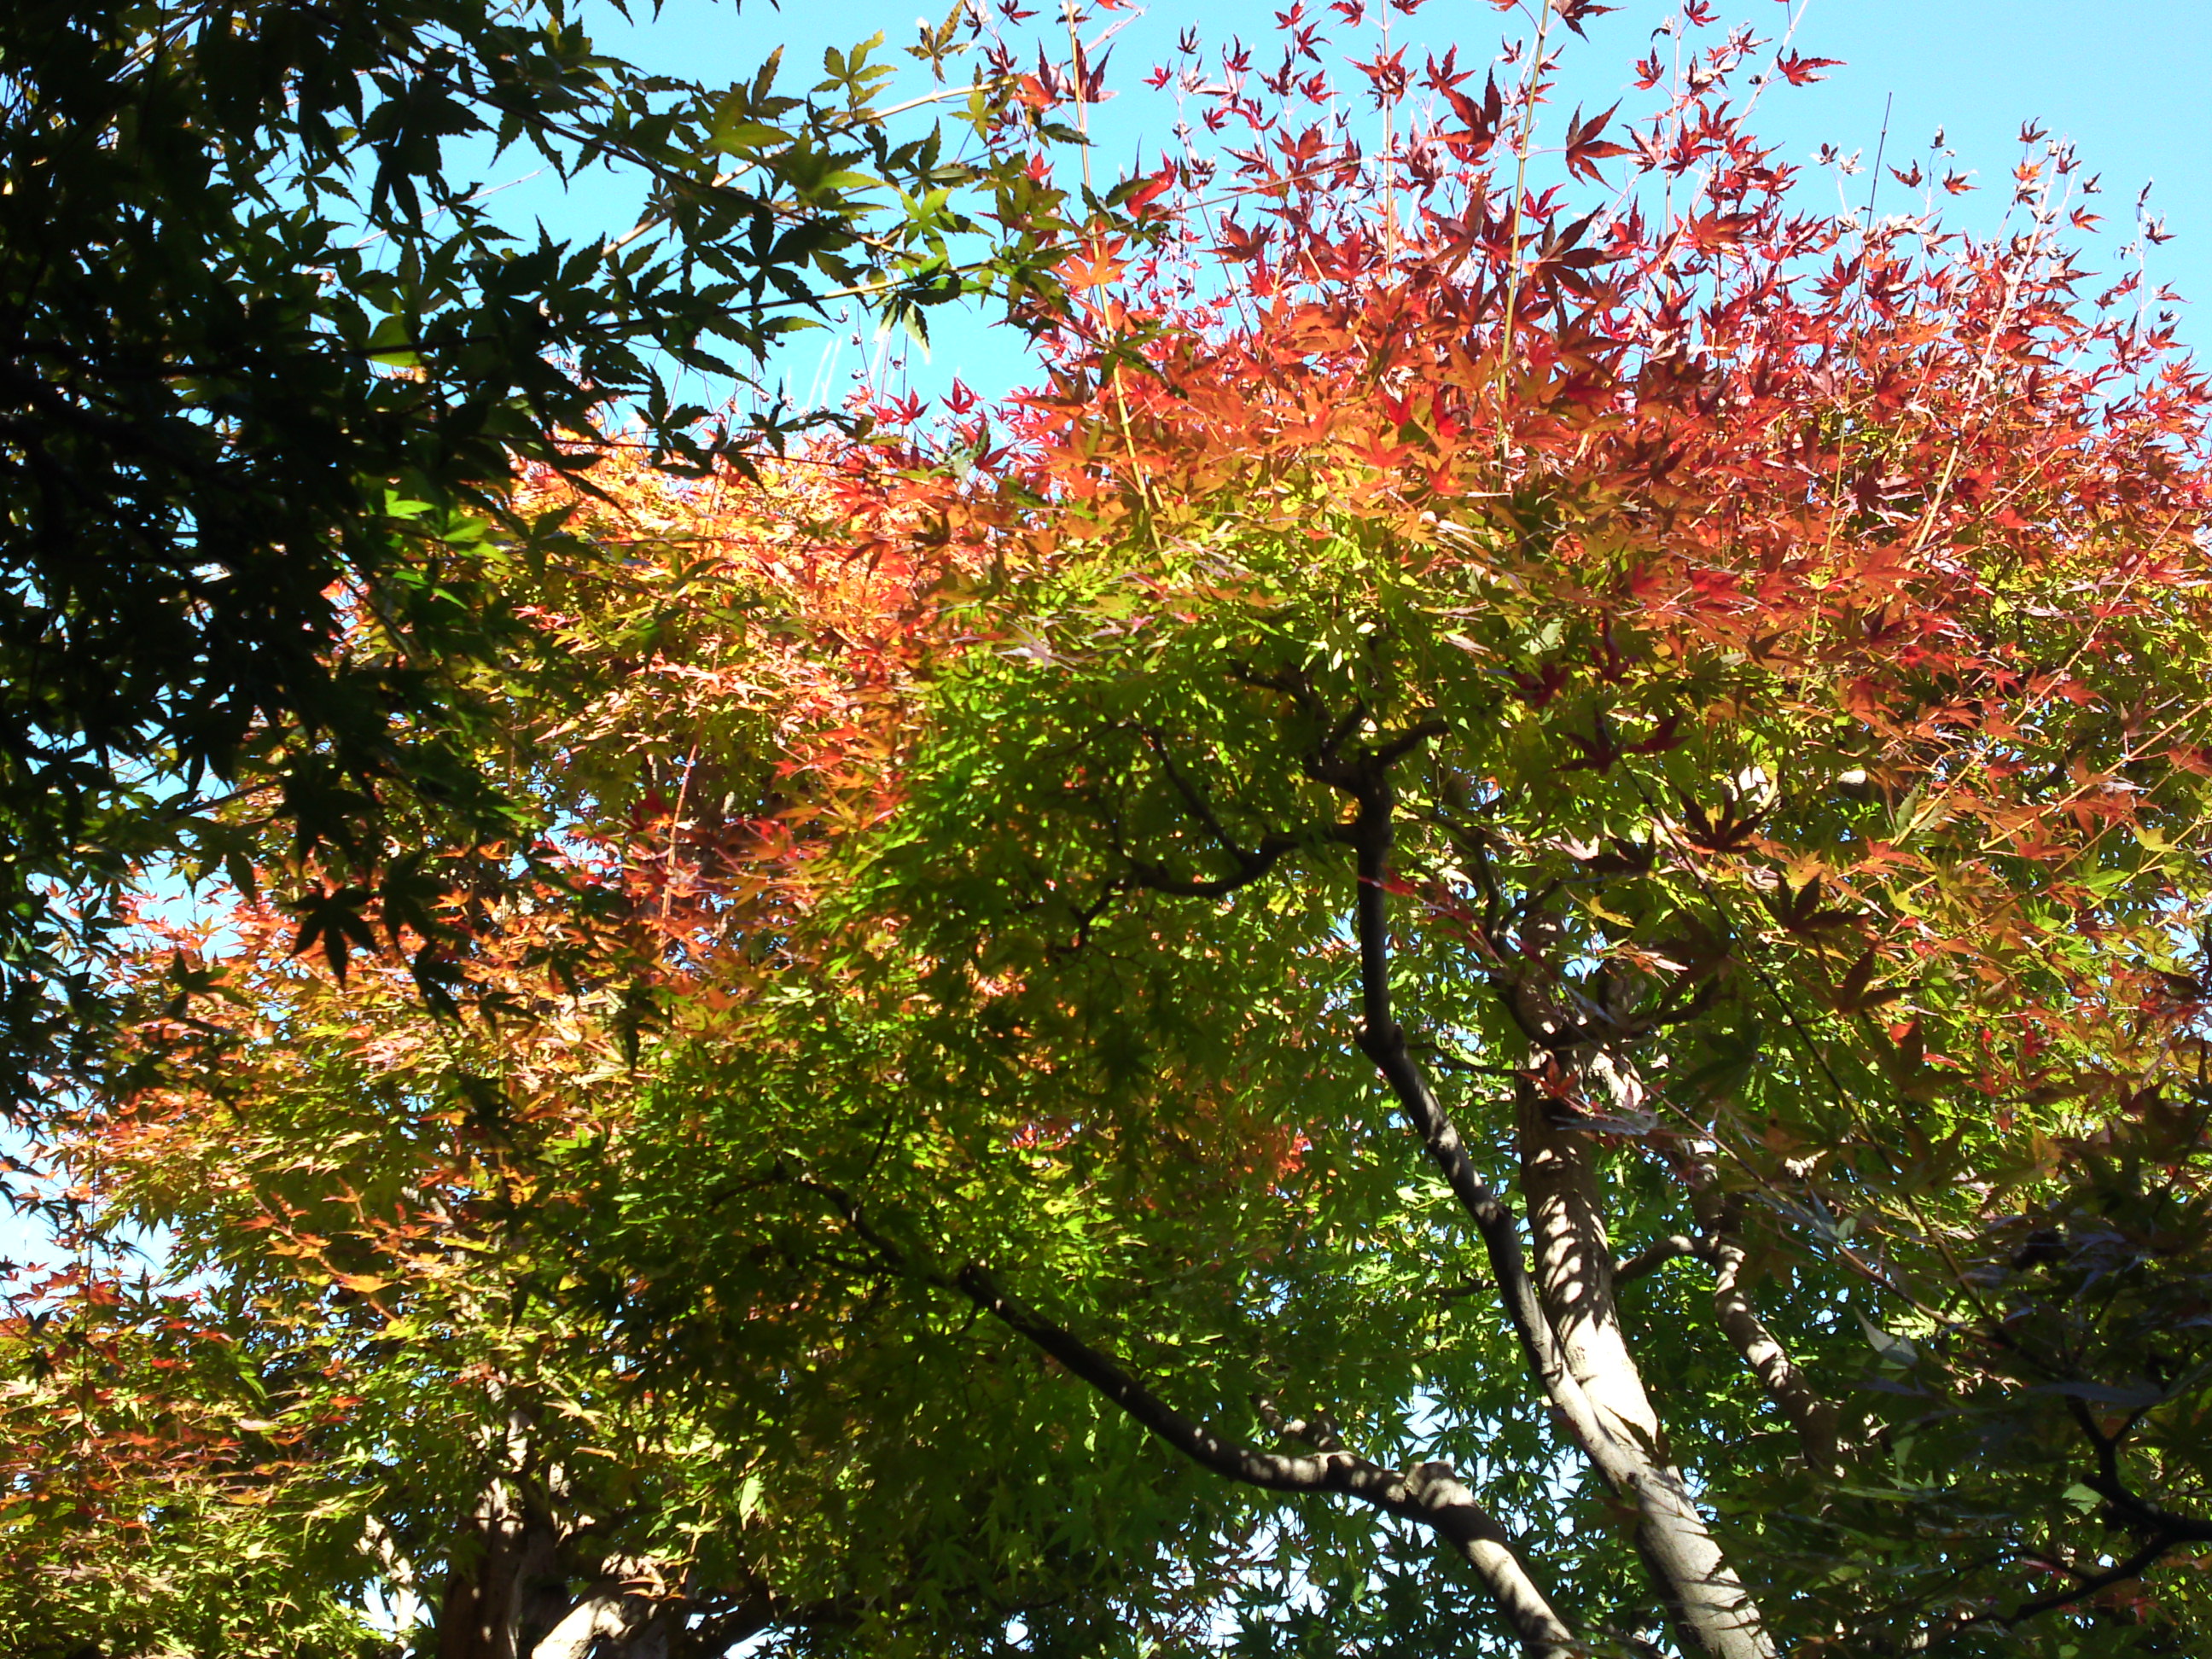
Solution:
{"label": "dark shaded green maple foliage overhanging at upper left", "polygon": [[[447,672],[529,644],[507,595],[553,526],[507,515],[518,465],[580,467],[635,422],[690,469],[781,442],[821,411],[763,398],[706,434],[675,387],[743,385],[825,294],[920,325],[1037,279],[1057,197],[916,126],[953,100],[991,131],[982,80],[891,106],[878,38],[803,91],[776,58],[710,88],[582,24],[562,0],[0,22],[11,1099],[93,1064],[137,860],[243,869],[219,801],[292,838],[330,938],[429,914],[425,816],[529,845]],[[949,20],[911,55],[942,84],[960,51]],[[644,217],[518,239],[465,170],[515,153],[635,179]]]}

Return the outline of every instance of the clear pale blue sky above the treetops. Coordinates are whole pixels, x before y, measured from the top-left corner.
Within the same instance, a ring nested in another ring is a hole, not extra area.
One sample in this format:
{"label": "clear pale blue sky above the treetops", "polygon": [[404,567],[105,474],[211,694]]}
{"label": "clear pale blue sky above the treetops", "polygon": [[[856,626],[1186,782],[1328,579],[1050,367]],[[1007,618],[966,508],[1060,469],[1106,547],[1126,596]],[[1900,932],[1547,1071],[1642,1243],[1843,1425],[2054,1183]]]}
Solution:
{"label": "clear pale blue sky above the treetops", "polygon": [[[914,38],[916,11],[936,18],[940,4],[787,0],[776,11],[752,0],[737,11],[714,0],[670,0],[659,18],[602,29],[599,38],[639,64],[708,82],[750,73],[781,44],[785,82],[796,82],[821,64],[825,44],[849,44],[883,29],[887,49],[896,51]],[[1057,15],[1057,0],[1024,4],[1040,11],[1026,29],[1042,29]],[[1307,4],[1325,11],[1323,0]],[[1717,9],[1723,24],[1747,18],[1763,35],[1778,33],[1794,11],[1776,0],[1717,0]],[[1590,27],[1588,42],[1571,42],[1564,102],[1601,108],[1628,91],[1628,62],[1672,11],[1672,0],[1619,0],[1613,15]],[[1115,44],[1110,75],[1128,91],[1095,111],[1097,166],[1119,170],[1139,153],[1155,157],[1166,142],[1166,104],[1137,80],[1168,58],[1177,31],[1197,27],[1208,42],[1241,35],[1261,46],[1259,62],[1274,13],[1274,0],[1155,0]],[[1097,18],[1086,33],[1106,20]],[[1436,51],[1458,44],[1462,64],[1480,64],[1498,53],[1502,29],[1517,31],[1517,22],[1489,0],[1425,0],[1413,18],[1398,20],[1396,38]],[[2130,234],[2137,190],[2154,179],[2152,212],[2166,217],[2174,239],[2154,250],[2152,276],[2185,296],[2212,296],[2212,168],[2205,164],[2212,155],[2212,0],[1807,0],[1794,49],[1845,64],[1818,86],[1776,86],[1763,100],[1756,126],[1781,144],[1783,159],[1809,164],[1820,144],[1871,159],[1882,142],[1885,108],[1891,161],[1924,155],[1933,133],[1944,128],[1955,150],[1949,166],[1971,168],[1989,186],[1949,204],[1953,223],[1978,228],[2002,210],[2020,126],[2037,119],[2079,146],[2086,170],[2104,175],[2108,228],[2119,230],[2108,237],[2104,263],[2110,263],[2110,243]],[[1548,115],[1559,119],[1564,113]],[[1854,199],[1863,199],[1856,192],[1865,181],[1860,175]],[[1825,181],[1809,188],[1834,201]],[[1885,210],[1909,206],[1893,184],[1885,190]],[[630,208],[602,186],[555,201],[544,181],[513,190],[509,201],[520,217],[542,212],[566,234],[624,223]],[[914,363],[925,389],[956,369],[991,392],[1024,378],[1024,358],[1002,332],[947,323],[951,319],[938,327],[933,363]],[[2205,330],[2203,312],[2183,312],[2185,338],[2208,343]],[[825,372],[825,345],[832,345],[827,336],[807,336],[792,352],[787,372],[796,392],[807,392],[810,383],[841,385],[863,356],[860,349],[834,349]]]}

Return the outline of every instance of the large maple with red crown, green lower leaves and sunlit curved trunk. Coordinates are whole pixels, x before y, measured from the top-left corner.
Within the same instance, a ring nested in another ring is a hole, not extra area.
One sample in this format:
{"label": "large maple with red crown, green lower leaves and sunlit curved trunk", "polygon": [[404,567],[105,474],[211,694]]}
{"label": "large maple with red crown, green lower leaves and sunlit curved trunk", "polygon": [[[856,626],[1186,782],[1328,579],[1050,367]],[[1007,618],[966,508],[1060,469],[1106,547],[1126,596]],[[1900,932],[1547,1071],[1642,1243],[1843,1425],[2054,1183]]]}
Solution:
{"label": "large maple with red crown, green lower leaves and sunlit curved trunk", "polygon": [[1582,15],[1511,91],[1387,38],[1310,86],[1298,13],[1181,80],[1248,146],[964,429],[993,644],[825,896],[933,1018],[785,1172],[1531,1652],[2154,1648],[2212,1535],[2205,385],[2077,292],[2033,131],[1991,237],[1805,212],[1728,88],[1818,64],[1747,29],[1540,188]]}

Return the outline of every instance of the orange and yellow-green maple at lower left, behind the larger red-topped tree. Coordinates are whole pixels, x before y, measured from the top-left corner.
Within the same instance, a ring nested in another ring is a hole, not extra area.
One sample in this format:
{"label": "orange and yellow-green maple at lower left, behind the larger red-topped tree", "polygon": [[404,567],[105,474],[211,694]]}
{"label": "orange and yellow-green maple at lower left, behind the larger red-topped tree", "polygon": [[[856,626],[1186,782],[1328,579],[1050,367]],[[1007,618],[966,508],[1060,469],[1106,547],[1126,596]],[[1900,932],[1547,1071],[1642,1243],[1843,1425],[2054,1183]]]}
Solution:
{"label": "orange and yellow-green maple at lower left, behind the larger red-topped tree", "polygon": [[[964,1349],[880,1343],[803,1234],[752,1259],[768,1318],[701,1387],[646,1376],[661,1336],[619,1316],[586,1199],[628,1168],[657,960],[792,964],[763,931],[787,936],[790,858],[834,805],[807,772],[869,750],[918,604],[911,566],[902,588],[896,560],[816,553],[836,471],[763,473],[686,487],[617,451],[582,498],[531,476],[522,507],[577,509],[593,555],[518,593],[562,695],[480,670],[509,699],[493,781],[566,847],[531,883],[438,883],[487,1018],[440,1020],[400,949],[338,975],[265,900],[139,918],[161,945],[115,1093],[51,1146],[97,1228],[0,1332],[11,1650],[389,1652],[372,1593],[449,1659],[1188,1617],[1126,1559],[1035,1548],[1051,1495],[1000,1440],[1020,1378],[967,1436],[936,1427]],[[155,1276],[133,1225],[159,1230]],[[1206,1546],[1203,1513],[1152,1517],[1148,1559]]]}

